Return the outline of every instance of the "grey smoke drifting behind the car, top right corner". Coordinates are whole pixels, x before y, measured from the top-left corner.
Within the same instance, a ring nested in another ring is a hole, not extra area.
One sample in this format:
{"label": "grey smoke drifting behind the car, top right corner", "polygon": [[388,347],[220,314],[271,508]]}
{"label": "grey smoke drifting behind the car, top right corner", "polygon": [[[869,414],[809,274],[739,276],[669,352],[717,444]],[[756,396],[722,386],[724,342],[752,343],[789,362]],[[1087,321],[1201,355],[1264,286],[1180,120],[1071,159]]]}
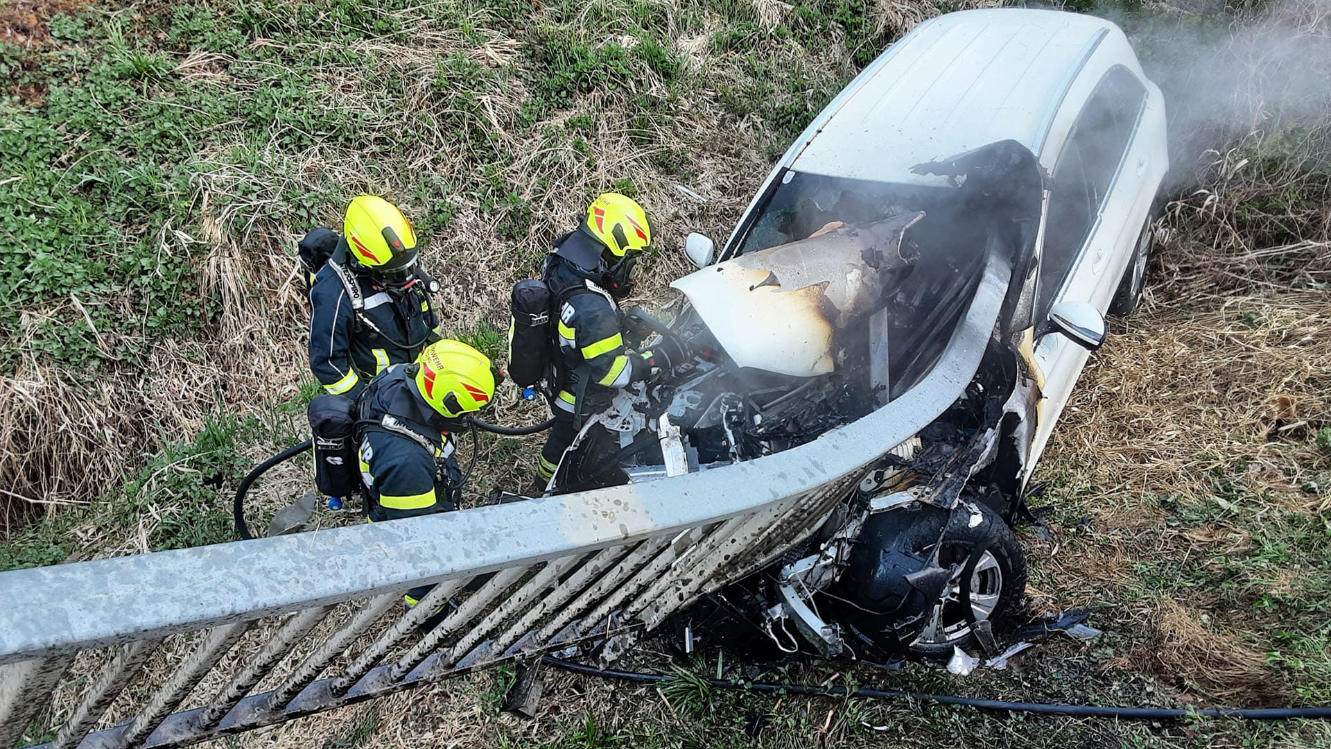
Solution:
{"label": "grey smoke drifting behind the car, top right corner", "polygon": [[[1127,32],[1165,93],[1174,164],[1166,191],[1191,184],[1214,161],[1210,149],[1250,133],[1331,143],[1331,0],[1242,9],[1205,0],[1097,15]],[[1331,163],[1331,149],[1320,153]]]}

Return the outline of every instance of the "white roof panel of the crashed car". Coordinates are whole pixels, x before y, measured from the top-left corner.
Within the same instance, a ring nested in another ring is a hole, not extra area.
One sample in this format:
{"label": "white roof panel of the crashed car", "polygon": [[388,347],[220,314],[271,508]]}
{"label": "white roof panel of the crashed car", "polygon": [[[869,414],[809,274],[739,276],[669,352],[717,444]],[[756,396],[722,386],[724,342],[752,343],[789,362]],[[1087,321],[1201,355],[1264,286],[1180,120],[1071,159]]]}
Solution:
{"label": "white roof panel of the crashed car", "polygon": [[1109,35],[1122,37],[1110,21],[1059,11],[925,21],[833,100],[791,168],[937,184],[910,167],[1008,139],[1038,156],[1067,89]]}

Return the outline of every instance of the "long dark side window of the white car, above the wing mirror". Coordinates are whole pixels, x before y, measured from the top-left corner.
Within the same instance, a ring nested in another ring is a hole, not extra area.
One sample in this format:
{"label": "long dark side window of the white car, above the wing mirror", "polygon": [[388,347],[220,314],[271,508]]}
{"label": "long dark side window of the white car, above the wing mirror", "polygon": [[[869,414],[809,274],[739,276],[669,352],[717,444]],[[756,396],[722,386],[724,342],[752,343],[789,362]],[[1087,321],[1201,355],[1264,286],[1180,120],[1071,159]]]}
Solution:
{"label": "long dark side window of the white car, above the wing mirror", "polygon": [[1081,255],[1146,104],[1146,87],[1127,68],[1113,68],[1082,107],[1054,164],[1054,187],[1040,259],[1038,319],[1044,319]]}

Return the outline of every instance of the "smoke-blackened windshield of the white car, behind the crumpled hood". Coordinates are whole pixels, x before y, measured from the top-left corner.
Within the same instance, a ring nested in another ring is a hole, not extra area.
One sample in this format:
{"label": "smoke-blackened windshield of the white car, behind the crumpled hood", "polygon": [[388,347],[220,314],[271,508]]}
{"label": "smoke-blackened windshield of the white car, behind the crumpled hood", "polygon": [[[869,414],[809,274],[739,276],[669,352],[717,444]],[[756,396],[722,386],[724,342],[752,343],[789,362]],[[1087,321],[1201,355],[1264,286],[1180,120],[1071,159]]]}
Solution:
{"label": "smoke-blackened windshield of the white car, behind the crumpled hood", "polygon": [[[856,325],[841,336],[851,344],[844,361],[865,371],[882,372],[881,365],[870,367],[865,357],[870,351],[886,351],[886,382],[878,374],[874,386],[886,390],[886,400],[892,400],[937,364],[970,307],[984,271],[989,233],[973,220],[973,212],[964,209],[960,192],[949,187],[785,172],[759,205],[757,219],[737,255],[797,243],[820,232],[840,233],[840,227],[853,232],[890,216],[924,212],[902,237],[901,257],[909,268],[898,284],[882,289],[880,323]],[[862,336],[874,343],[869,345]],[[862,349],[855,339],[862,341]]]}

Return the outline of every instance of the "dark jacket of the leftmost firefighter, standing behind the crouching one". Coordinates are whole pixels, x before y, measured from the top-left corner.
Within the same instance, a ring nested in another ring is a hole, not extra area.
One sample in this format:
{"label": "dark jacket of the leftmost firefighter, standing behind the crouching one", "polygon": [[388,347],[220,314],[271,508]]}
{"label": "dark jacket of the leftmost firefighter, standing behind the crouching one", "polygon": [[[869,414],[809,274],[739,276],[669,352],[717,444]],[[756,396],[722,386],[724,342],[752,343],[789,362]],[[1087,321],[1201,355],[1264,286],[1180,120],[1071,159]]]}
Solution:
{"label": "dark jacket of the leftmost firefighter, standing behind the crouching one", "polygon": [[[346,268],[346,240],[338,243],[331,263]],[[310,288],[310,371],[334,394],[355,397],[370,377],[390,364],[415,361],[438,325],[422,284],[390,292],[366,273],[349,273],[359,285],[363,309],[329,265]]]}

